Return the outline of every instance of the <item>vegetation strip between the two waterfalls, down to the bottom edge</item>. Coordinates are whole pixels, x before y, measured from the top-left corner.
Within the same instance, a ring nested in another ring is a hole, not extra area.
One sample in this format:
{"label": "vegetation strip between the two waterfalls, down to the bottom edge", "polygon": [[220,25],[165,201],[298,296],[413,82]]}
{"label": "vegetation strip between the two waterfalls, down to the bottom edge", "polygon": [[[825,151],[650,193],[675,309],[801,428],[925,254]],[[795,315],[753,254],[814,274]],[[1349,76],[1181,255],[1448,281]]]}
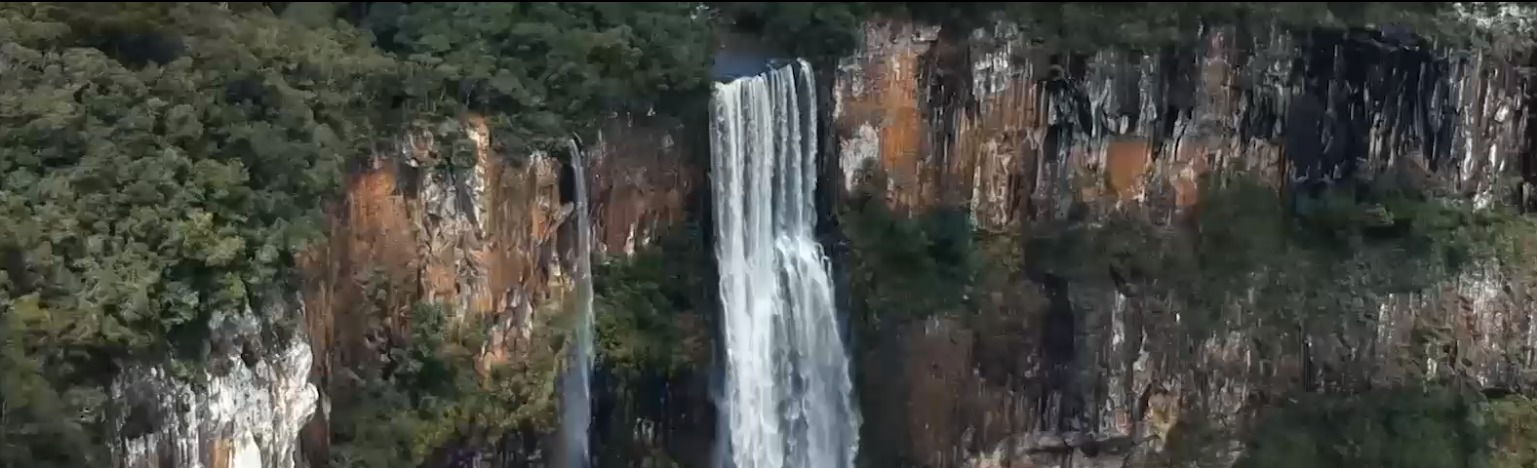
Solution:
{"label": "vegetation strip between the two waterfalls, down to the bottom edge", "polygon": [[686,223],[593,274],[598,465],[678,466],[701,456],[676,440],[710,428],[699,414],[710,405],[704,377],[715,336],[705,236]]}

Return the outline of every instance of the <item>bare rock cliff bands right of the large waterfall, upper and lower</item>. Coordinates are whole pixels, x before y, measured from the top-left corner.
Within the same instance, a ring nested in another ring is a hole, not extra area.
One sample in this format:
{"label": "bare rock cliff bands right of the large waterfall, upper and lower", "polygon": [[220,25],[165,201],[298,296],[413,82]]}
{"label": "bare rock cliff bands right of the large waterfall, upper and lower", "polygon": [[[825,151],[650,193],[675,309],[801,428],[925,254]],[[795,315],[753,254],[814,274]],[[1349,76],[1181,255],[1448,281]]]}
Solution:
{"label": "bare rock cliff bands right of the large waterfall, upper and lower", "polygon": [[[1485,205],[1497,171],[1528,165],[1531,88],[1499,57],[1365,32],[1227,28],[1187,48],[1076,57],[999,45],[1010,37],[870,25],[836,72],[845,189],[878,169],[901,212],[961,206],[979,231],[1030,236],[1128,212],[1177,223],[1213,171],[1286,192],[1405,171]],[[987,326],[933,317],[895,331],[905,345],[878,360],[905,365],[865,365],[865,414],[879,414],[865,440],[936,466],[1108,466],[1159,451],[1182,419],[1236,428],[1260,394],[1449,374],[1514,386],[1537,339],[1528,286],[1474,268],[1266,345],[1274,331],[1243,300],[1191,337],[1179,309],[1110,279],[1017,279],[984,300],[996,305]],[[1425,349],[1425,329],[1451,345]],[[985,371],[999,366],[1016,371]]]}

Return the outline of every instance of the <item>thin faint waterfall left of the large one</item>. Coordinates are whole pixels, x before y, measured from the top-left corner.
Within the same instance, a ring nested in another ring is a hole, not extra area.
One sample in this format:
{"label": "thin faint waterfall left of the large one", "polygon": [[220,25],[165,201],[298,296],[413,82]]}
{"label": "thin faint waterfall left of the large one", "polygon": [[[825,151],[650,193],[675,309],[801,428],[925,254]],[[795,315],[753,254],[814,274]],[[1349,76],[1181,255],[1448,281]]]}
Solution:
{"label": "thin faint waterfall left of the large one", "polygon": [[586,468],[590,465],[587,426],[592,423],[592,219],[587,211],[587,159],[576,140],[567,142],[572,157],[572,179],[576,186],[576,297],[572,302],[576,317],[570,366],[561,382],[561,466]]}

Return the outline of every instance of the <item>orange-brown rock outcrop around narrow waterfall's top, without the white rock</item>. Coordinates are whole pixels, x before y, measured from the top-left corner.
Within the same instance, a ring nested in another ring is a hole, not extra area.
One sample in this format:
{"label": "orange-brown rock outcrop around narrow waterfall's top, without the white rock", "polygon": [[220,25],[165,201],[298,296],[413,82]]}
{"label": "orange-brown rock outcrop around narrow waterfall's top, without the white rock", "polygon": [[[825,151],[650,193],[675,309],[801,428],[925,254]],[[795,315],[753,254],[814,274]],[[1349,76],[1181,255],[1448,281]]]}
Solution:
{"label": "orange-brown rock outcrop around narrow waterfall's top, without the white rock", "polygon": [[[615,119],[586,145],[599,254],[624,256],[681,219],[692,188],[676,125]],[[354,171],[332,209],[329,237],[301,259],[307,333],[323,389],[367,359],[418,302],[449,305],[496,333],[487,359],[516,359],[543,317],[569,291],[572,183],[564,159],[498,154],[484,122],[464,119],[470,165],[449,168],[441,139],[418,132]],[[326,453],[326,416],[307,430],[307,451]]]}

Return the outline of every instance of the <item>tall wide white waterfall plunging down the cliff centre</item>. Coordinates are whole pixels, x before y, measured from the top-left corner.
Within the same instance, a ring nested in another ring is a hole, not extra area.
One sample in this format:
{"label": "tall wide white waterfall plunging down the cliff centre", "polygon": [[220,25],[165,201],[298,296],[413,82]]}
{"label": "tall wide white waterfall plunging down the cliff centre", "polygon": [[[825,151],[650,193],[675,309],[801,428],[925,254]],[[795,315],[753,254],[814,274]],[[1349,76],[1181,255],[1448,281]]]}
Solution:
{"label": "tall wide white waterfall plunging down the cliff centre", "polygon": [[816,243],[816,88],[805,62],[715,86],[710,125],[725,337],[719,465],[853,466],[853,405]]}

